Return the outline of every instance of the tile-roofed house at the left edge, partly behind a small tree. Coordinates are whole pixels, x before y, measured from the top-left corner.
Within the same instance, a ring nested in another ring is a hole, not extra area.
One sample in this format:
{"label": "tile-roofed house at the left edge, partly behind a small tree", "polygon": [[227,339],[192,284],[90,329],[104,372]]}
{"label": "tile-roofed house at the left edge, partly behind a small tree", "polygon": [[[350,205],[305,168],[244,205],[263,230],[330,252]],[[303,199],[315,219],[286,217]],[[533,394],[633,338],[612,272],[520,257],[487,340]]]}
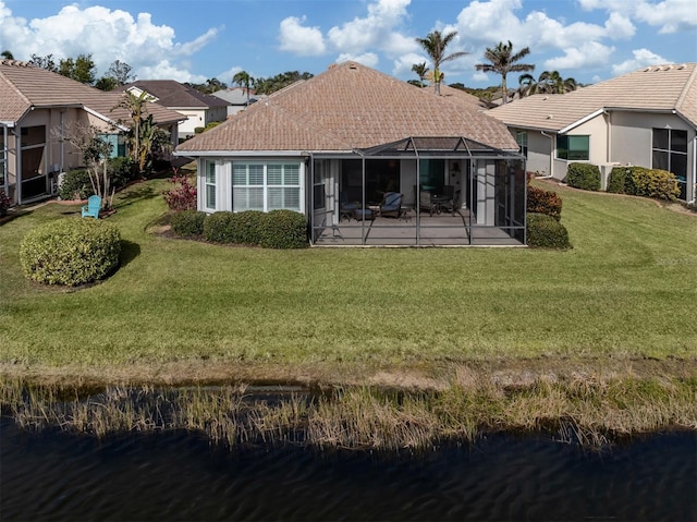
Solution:
{"label": "tile-roofed house at the left edge, partly behind a small tree", "polygon": [[[121,93],[105,93],[60,74],[16,60],[0,60],[0,189],[15,204],[52,195],[58,173],[83,163],[62,133],[74,123],[103,130],[113,156],[125,155],[122,133],[130,113],[117,105]],[[148,106],[155,122],[171,132],[184,117]]]}

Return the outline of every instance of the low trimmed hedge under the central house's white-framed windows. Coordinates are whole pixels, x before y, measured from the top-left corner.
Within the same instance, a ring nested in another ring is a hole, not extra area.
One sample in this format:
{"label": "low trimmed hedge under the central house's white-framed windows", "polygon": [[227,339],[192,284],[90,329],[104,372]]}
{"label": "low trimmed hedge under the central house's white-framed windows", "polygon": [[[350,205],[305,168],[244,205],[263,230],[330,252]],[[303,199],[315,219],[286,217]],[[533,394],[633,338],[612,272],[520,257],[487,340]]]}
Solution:
{"label": "low trimmed hedge under the central house's white-framed windows", "polygon": [[219,211],[210,215],[183,210],[174,214],[170,223],[178,235],[203,238],[215,243],[265,248],[304,248],[308,245],[305,216],[292,210]]}

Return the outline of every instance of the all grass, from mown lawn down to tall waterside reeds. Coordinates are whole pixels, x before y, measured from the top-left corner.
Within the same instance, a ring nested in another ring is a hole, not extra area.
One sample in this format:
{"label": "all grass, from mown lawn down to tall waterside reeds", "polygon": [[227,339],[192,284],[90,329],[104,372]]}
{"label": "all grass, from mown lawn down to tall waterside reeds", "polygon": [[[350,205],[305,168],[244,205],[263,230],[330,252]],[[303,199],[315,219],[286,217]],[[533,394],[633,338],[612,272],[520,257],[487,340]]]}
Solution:
{"label": "all grass, from mown lawn down to tall waterside reeds", "polygon": [[[120,195],[108,219],[123,238],[122,266],[88,288],[32,283],[19,264],[27,231],[78,206],[50,203],[0,224],[5,399],[27,383],[60,397],[95,384],[343,390],[311,409],[245,410],[244,425],[235,397],[176,401],[172,423],[228,444],[302,430],[325,446],[418,447],[549,423],[598,442],[607,432],[697,427],[694,215],[554,186],[570,251],[271,251],[152,233],[166,189],[151,180]],[[366,391],[376,386],[417,393],[395,401]],[[72,429],[98,433],[158,427],[152,410],[133,404],[99,406],[95,418],[84,402],[68,416],[56,402],[19,418],[70,417]]]}

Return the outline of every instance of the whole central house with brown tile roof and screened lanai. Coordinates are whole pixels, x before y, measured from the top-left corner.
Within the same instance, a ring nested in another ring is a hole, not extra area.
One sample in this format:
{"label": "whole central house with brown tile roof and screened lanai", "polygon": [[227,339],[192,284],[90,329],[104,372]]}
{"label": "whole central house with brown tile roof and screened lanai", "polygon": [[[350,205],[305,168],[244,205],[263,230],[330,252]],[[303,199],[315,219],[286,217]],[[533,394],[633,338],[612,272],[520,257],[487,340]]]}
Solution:
{"label": "whole central house with brown tile roof and screened lanai", "polygon": [[175,155],[197,160],[200,210],[292,209],[316,245],[525,243],[525,163],[505,125],[359,63],[285,87]]}

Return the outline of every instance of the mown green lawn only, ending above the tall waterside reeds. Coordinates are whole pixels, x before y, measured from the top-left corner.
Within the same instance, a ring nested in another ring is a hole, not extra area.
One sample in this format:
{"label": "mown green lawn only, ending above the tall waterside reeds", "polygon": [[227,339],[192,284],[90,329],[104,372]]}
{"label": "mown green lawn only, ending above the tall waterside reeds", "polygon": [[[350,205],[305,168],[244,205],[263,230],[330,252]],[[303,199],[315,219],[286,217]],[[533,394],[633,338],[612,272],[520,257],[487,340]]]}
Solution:
{"label": "mown green lawn only, ending above the tall waterside reeds", "polygon": [[19,266],[29,229],[78,207],[0,226],[0,368],[697,356],[697,218],[648,199],[557,189],[566,252],[270,251],[148,232],[166,187],[118,201],[123,264],[91,288],[39,287]]}

